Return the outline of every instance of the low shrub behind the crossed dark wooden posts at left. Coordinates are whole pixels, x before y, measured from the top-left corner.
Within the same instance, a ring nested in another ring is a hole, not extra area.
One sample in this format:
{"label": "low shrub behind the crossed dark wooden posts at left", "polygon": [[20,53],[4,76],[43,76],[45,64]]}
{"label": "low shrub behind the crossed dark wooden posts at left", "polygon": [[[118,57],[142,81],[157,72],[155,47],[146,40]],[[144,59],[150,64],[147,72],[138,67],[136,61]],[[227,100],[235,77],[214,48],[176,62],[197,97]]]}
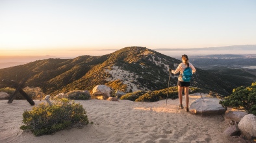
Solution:
{"label": "low shrub behind the crossed dark wooden posts at left", "polygon": [[[16,89],[11,87],[5,87],[0,89],[0,91],[12,95],[16,91]],[[38,99],[41,100],[45,96],[45,94],[42,92],[42,89],[40,87],[25,87],[23,91],[25,91],[25,93],[27,93],[27,95],[31,97],[32,100],[38,100]],[[25,98],[20,93],[16,94],[15,99],[25,100]]]}

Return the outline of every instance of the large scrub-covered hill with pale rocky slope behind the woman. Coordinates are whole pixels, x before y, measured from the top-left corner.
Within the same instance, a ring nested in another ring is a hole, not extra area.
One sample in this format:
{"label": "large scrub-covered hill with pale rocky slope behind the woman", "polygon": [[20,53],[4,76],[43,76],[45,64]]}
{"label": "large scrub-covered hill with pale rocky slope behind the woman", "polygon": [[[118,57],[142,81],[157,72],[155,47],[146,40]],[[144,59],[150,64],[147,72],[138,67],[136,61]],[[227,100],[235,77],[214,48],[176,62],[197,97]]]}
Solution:
{"label": "large scrub-covered hill with pale rocky slope behind the woman", "polygon": [[[168,69],[175,69],[180,60],[145,47],[126,47],[103,56],[79,56],[73,59],[37,60],[25,65],[0,69],[0,79],[21,81],[31,73],[27,85],[42,87],[47,94],[92,88],[99,84],[125,92],[155,91],[168,86]],[[172,77],[171,86],[177,84]],[[196,82],[196,84],[195,84]],[[227,95],[234,85],[197,68],[191,85]],[[5,87],[1,82],[0,87]]]}

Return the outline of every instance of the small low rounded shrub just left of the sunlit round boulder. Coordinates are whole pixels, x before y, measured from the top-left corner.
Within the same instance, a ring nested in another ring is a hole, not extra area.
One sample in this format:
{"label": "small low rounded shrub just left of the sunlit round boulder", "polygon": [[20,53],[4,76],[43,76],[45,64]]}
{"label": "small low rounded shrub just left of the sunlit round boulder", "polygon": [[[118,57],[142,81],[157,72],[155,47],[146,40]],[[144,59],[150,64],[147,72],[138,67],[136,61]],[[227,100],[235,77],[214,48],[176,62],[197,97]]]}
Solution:
{"label": "small low rounded shrub just left of the sunlit round boulder", "polygon": [[90,93],[87,91],[75,90],[67,93],[70,100],[89,100],[91,98]]}

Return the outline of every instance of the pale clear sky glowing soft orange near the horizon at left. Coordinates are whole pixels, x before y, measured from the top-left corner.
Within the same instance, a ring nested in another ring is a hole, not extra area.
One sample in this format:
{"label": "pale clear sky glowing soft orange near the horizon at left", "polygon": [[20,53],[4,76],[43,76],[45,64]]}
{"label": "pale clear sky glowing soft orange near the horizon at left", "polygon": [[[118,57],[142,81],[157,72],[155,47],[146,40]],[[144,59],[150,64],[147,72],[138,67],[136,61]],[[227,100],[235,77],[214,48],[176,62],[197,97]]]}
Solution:
{"label": "pale clear sky glowing soft orange near the horizon at left", "polygon": [[0,56],[255,44],[255,0],[0,0]]}

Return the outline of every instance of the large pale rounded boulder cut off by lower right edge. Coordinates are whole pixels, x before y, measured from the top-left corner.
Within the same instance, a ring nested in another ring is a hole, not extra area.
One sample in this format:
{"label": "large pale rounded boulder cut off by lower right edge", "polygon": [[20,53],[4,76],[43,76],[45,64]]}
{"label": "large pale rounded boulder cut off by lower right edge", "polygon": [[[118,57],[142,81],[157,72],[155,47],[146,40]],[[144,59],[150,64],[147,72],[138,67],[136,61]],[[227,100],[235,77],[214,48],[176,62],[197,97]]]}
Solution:
{"label": "large pale rounded boulder cut off by lower right edge", "polygon": [[245,115],[238,124],[242,135],[250,139],[251,137],[256,137],[256,116],[253,114]]}

